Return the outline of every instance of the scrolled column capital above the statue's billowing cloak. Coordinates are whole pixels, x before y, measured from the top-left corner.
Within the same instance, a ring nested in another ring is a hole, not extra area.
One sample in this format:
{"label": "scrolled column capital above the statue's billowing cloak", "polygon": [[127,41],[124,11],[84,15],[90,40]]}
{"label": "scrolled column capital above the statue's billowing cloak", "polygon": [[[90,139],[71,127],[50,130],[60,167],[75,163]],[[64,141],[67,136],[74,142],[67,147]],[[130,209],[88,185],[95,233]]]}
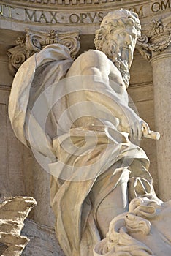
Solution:
{"label": "scrolled column capital above the statue's billowing cloak", "polygon": [[16,40],[17,46],[7,52],[9,56],[9,72],[15,75],[26,59],[45,48],[45,46],[55,43],[65,45],[69,49],[72,59],[75,59],[80,49],[79,31],[57,32],[51,30],[44,32],[26,29],[26,38],[18,37]]}

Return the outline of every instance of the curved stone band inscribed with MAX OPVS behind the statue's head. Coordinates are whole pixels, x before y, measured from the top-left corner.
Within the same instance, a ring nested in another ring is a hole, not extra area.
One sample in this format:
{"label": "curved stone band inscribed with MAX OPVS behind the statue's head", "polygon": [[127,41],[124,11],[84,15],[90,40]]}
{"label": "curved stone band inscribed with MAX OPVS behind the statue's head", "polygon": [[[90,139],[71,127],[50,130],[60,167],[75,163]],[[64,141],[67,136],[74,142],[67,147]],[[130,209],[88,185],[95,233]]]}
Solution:
{"label": "curved stone band inscribed with MAX OPVS behind the statue's head", "polygon": [[[160,0],[148,3],[148,5],[139,5],[136,7],[125,7],[127,10],[137,12],[140,18],[151,13],[162,12],[171,7],[171,0]],[[12,7],[0,3],[0,18],[10,18],[14,20],[22,20],[33,23],[49,23],[49,24],[77,24],[77,23],[101,23],[107,12],[58,12],[31,10]]]}

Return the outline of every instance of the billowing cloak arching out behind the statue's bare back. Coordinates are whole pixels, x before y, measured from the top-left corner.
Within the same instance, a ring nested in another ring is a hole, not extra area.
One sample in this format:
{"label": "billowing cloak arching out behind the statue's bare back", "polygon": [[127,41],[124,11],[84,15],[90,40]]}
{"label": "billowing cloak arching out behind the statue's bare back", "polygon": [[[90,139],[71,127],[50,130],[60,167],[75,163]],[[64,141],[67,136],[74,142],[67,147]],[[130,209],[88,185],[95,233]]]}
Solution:
{"label": "billowing cloak arching out behind the statue's bare back", "polygon": [[[9,118],[16,137],[53,161],[56,159],[52,153],[53,127],[56,126],[56,120],[51,115],[50,125],[44,127],[48,118],[44,120],[41,116],[52,108],[50,100],[55,89],[52,85],[64,78],[71,64],[68,48],[59,44],[47,45],[39,53],[34,53],[18,69],[9,97]],[[64,99],[61,105],[65,108]]]}

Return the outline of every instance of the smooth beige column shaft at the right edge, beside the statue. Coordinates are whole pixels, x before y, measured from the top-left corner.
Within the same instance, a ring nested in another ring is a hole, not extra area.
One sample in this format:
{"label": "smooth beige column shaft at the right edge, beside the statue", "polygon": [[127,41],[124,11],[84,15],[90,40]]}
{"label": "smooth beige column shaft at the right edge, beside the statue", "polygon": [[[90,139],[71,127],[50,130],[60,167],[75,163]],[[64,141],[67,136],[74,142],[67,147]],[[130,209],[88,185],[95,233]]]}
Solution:
{"label": "smooth beige column shaft at the right edge, beside the statue", "polygon": [[159,177],[159,197],[171,199],[171,47],[153,56],[154,113],[156,131],[161,138],[156,141]]}

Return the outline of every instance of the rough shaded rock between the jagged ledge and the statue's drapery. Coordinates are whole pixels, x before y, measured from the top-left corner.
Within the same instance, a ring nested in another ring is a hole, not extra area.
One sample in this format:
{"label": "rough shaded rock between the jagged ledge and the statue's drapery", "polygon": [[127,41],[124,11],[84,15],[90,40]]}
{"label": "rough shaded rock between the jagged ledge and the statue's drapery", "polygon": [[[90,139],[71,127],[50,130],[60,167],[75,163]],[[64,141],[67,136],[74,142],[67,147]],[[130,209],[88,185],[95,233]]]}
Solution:
{"label": "rough shaded rock between the jagged ledge and the statue's drapery", "polygon": [[30,239],[22,256],[64,256],[53,227],[38,225],[31,219],[26,219],[22,235]]}

